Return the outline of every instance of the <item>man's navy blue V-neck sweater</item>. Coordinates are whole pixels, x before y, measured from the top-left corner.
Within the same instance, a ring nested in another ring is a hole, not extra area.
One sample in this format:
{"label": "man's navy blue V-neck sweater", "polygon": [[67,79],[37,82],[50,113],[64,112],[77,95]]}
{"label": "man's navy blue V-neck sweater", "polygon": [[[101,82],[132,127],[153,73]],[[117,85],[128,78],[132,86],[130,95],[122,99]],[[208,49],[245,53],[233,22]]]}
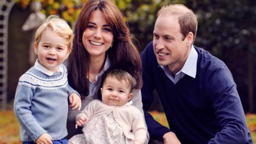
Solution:
{"label": "man's navy blue V-neck sweater", "polygon": [[[152,42],[141,53],[142,102],[151,139],[163,141],[173,131],[181,143],[253,143],[233,77],[221,60],[194,46],[196,77],[185,75],[177,84],[159,67]],[[170,129],[146,111],[156,89]]]}

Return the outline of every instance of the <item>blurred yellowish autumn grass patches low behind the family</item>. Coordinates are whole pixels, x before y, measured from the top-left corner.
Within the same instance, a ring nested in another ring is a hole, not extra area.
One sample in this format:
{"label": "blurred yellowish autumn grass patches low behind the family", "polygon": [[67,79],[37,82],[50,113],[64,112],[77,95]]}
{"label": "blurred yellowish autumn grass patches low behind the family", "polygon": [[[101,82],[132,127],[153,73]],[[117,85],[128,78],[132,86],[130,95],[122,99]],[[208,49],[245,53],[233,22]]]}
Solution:
{"label": "blurred yellowish autumn grass patches low behind the family", "polygon": [[[151,111],[153,117],[161,124],[169,127],[164,113]],[[246,121],[252,134],[254,143],[256,142],[256,115],[246,114]],[[19,137],[19,123],[14,116],[13,111],[0,111],[0,144],[18,144],[21,143]]]}

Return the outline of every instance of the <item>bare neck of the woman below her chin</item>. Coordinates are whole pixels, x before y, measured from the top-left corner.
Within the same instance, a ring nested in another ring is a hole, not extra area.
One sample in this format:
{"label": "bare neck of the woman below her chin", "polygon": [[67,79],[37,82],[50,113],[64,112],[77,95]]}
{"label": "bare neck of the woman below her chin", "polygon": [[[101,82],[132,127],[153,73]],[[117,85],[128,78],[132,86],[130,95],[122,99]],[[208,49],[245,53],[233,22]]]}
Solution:
{"label": "bare neck of the woman below her chin", "polygon": [[96,76],[100,73],[101,69],[103,68],[105,59],[106,56],[104,58],[90,57],[88,78],[92,83],[96,81]]}

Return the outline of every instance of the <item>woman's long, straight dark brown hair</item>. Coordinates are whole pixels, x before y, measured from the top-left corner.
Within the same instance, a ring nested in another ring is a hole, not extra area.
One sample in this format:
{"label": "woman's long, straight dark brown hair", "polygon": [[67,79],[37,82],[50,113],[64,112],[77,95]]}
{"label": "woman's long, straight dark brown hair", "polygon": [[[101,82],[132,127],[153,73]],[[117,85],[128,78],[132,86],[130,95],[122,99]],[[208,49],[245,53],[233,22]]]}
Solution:
{"label": "woman's long, straight dark brown hair", "polygon": [[[82,43],[82,36],[90,17],[95,10],[100,10],[110,25],[114,34],[113,46],[107,51],[111,69],[123,69],[130,73],[137,81],[135,89],[142,86],[141,60],[137,47],[133,44],[121,11],[110,0],[89,0],[82,8],[76,25],[73,41],[73,51],[68,60],[68,83],[82,95],[89,94],[89,53]],[[104,65],[104,64],[103,64]]]}

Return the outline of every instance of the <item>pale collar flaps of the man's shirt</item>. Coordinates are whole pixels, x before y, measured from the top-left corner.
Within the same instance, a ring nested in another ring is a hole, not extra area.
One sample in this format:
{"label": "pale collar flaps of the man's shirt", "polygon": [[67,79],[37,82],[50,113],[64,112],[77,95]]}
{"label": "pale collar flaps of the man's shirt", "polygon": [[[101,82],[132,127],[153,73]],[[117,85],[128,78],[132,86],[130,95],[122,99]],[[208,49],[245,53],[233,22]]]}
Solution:
{"label": "pale collar flaps of the man's shirt", "polygon": [[[178,75],[180,72],[182,72],[188,76],[196,78],[197,58],[198,58],[198,54],[195,50],[195,47],[193,45],[191,45],[191,49],[190,49],[188,58],[184,64],[184,66],[176,75]],[[169,69],[167,66],[162,66],[162,65],[159,65],[159,66],[164,70]]]}

